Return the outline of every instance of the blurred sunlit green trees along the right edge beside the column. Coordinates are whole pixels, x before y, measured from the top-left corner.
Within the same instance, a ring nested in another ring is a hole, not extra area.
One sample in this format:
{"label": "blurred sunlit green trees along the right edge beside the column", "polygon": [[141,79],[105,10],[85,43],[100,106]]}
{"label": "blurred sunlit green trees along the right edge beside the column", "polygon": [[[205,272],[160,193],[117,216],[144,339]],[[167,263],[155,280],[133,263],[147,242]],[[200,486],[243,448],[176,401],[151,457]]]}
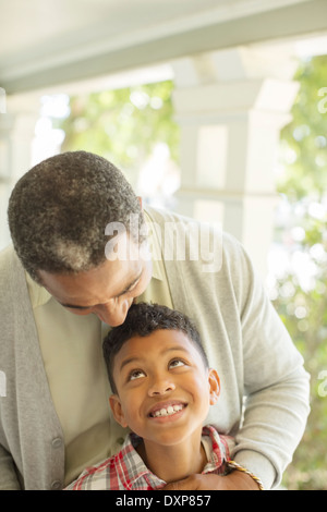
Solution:
{"label": "blurred sunlit green trees along the right edge beside the column", "polygon": [[290,267],[276,280],[274,303],[311,374],[312,412],[283,480],[289,489],[327,490],[327,56],[301,62],[295,78],[300,90],[281,133],[278,182],[293,219],[277,233],[287,240]]}

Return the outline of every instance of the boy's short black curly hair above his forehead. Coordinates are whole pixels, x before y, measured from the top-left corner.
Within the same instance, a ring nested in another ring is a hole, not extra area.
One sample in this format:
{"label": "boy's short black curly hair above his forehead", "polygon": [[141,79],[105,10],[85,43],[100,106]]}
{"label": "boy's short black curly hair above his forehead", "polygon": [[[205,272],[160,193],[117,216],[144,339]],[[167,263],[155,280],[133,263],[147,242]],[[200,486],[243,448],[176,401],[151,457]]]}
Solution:
{"label": "boy's short black curly hair above his forehead", "polygon": [[145,338],[154,331],[161,329],[184,332],[197,349],[205,367],[208,368],[209,363],[202,345],[199,332],[186,315],[159,304],[133,304],[130,307],[125,321],[121,326],[113,327],[104,339],[104,357],[113,393],[117,394],[117,387],[113,380],[113,362],[122,345],[134,336]]}

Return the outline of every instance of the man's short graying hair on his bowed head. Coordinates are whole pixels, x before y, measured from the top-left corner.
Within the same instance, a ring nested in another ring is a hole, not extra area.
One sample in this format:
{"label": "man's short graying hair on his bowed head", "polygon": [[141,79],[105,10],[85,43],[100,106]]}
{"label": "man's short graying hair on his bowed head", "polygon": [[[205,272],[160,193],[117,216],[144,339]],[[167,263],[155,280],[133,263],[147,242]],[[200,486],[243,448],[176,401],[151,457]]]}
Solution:
{"label": "man's short graying hair on his bowed head", "polygon": [[[138,216],[138,225],[131,215]],[[141,244],[140,202],[120,170],[86,151],[64,153],[32,168],[16,183],[8,208],[14,248],[31,277],[38,270],[76,273],[106,260],[109,222],[121,222]]]}

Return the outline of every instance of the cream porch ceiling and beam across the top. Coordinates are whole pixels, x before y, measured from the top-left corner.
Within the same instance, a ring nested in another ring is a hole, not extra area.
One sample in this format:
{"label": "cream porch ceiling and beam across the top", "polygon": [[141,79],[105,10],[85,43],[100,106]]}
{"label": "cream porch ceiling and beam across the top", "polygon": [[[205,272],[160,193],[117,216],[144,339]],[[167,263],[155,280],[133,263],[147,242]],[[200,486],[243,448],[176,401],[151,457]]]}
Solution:
{"label": "cream porch ceiling and beam across the top", "polygon": [[326,32],[326,0],[0,0],[0,86],[23,93]]}

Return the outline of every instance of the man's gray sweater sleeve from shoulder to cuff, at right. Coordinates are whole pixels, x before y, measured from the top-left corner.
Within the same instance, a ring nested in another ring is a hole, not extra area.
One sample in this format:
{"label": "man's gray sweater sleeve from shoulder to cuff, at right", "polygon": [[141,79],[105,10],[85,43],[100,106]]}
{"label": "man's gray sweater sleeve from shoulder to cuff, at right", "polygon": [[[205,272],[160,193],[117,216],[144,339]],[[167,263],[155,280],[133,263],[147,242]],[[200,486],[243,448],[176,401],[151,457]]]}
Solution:
{"label": "man's gray sweater sleeve from shoulder to cuff, at right", "polygon": [[231,456],[270,488],[280,483],[303,436],[310,412],[310,376],[244,252],[241,261],[246,402]]}

